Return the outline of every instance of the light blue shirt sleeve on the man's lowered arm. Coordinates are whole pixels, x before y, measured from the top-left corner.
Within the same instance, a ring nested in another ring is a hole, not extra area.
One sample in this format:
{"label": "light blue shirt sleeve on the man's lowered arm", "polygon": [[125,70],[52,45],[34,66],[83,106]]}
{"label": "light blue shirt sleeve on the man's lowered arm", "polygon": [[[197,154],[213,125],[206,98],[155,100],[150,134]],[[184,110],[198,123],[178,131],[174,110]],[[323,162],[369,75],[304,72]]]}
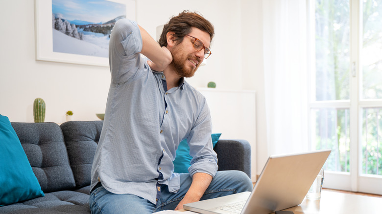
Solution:
{"label": "light blue shirt sleeve on the man's lowered arm", "polygon": [[201,102],[200,114],[187,138],[192,157],[191,167],[189,167],[191,177],[196,172],[207,173],[213,177],[216,174],[218,168],[217,157],[212,146],[211,132],[210,109],[204,99],[204,102]]}

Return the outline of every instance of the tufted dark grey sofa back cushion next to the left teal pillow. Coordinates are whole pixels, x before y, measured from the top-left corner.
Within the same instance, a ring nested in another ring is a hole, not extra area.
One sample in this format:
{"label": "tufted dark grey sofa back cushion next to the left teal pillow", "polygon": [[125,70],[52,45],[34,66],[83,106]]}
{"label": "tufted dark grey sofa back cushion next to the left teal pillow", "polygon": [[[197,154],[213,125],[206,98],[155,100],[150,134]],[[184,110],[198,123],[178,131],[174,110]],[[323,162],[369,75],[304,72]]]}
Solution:
{"label": "tufted dark grey sofa back cushion next to the left teal pillow", "polygon": [[44,193],[75,187],[61,128],[55,123],[11,123]]}

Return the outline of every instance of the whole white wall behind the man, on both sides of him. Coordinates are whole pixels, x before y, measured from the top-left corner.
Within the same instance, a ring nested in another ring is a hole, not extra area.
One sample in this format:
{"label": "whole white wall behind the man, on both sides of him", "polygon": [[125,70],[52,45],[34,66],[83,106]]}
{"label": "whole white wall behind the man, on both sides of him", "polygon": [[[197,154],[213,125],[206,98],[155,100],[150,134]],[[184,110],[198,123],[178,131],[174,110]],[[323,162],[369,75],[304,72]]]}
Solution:
{"label": "whole white wall behind the man, on both sides of him", "polygon": [[[187,81],[194,87],[214,81],[219,89],[257,91],[258,174],[268,156],[261,1],[137,0],[137,22],[154,38],[158,25],[183,10],[199,11],[214,24],[213,54]],[[65,122],[67,110],[75,120],[97,120],[95,113],[105,110],[109,68],[36,61],[34,1],[2,0],[0,8],[0,114],[12,122],[33,122],[32,104],[41,97],[46,122]]]}

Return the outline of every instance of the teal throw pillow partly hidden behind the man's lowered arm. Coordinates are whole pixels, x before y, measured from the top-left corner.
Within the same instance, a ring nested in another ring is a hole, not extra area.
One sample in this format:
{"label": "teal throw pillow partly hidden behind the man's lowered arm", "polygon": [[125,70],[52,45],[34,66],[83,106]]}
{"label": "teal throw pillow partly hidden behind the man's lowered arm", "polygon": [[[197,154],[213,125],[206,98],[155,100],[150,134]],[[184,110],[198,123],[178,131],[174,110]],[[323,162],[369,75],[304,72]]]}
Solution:
{"label": "teal throw pillow partly hidden behind the man's lowered arm", "polygon": [[[212,134],[212,146],[215,147],[217,141],[219,140],[221,133]],[[172,162],[174,164],[174,172],[177,173],[188,173],[189,167],[191,166],[191,155],[190,155],[190,147],[187,144],[187,139],[182,140],[179,143],[179,147],[176,150],[175,160]]]}

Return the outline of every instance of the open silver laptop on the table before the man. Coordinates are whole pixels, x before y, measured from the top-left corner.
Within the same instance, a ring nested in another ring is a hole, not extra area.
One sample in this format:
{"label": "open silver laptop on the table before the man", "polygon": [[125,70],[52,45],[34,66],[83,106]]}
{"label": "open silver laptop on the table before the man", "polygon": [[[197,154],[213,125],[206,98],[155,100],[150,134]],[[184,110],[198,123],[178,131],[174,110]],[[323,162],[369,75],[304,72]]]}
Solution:
{"label": "open silver laptop on the table before the man", "polygon": [[[331,150],[271,155],[252,192],[183,205],[202,214],[269,214],[301,204]],[[239,212],[229,211],[241,204]]]}

